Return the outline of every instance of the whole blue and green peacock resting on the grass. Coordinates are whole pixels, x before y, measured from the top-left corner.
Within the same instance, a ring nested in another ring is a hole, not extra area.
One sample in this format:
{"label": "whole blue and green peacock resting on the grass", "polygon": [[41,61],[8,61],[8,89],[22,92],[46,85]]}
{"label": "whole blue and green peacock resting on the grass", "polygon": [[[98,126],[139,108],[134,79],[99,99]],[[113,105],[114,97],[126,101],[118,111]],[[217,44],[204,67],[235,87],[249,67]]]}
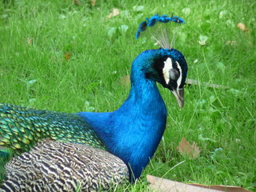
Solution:
{"label": "whole blue and green peacock resting on the grass", "polygon": [[155,14],[139,24],[136,38],[161,26],[150,32],[161,47],[134,59],[130,94],[118,110],[67,114],[1,104],[0,157],[16,156],[6,164],[2,190],[107,190],[110,183],[138,179],[166,128],[166,105],[156,82],[170,90],[180,108],[184,105],[188,67],[169,41],[166,23],[173,22],[185,23]]}

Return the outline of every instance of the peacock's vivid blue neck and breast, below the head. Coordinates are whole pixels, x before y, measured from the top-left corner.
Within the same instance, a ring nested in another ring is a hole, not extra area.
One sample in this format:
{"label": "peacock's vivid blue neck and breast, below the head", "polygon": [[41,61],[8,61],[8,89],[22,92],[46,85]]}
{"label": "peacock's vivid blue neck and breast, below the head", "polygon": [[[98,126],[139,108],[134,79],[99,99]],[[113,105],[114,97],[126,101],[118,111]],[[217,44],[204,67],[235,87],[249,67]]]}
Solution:
{"label": "peacock's vivid blue neck and breast, below the head", "polygon": [[166,106],[139,61],[132,67],[129,97],[118,110],[78,113],[97,131],[110,153],[130,165],[134,178],[149,163],[166,127]]}

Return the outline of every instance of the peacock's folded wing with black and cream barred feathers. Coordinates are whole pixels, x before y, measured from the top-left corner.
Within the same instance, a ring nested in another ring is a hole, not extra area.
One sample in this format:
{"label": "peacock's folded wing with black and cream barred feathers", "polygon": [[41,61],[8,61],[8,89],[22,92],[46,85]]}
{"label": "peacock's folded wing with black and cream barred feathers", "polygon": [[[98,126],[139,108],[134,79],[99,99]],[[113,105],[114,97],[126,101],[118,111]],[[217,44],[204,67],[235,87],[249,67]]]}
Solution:
{"label": "peacock's folded wing with black and cream barred feathers", "polygon": [[109,190],[126,179],[126,164],[106,150],[43,140],[6,164],[0,191]]}

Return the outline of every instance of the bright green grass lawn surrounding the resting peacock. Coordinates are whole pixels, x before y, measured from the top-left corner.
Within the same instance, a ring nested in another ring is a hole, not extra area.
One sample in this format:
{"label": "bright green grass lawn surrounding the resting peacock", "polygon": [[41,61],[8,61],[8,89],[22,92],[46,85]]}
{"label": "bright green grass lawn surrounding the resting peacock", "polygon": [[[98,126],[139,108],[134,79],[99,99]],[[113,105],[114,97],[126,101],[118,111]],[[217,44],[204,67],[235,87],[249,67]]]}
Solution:
{"label": "bright green grass lawn surrounding the resting peacock", "polygon": [[[174,13],[186,20],[175,48],[186,57],[188,78],[229,88],[187,86],[186,105],[178,110],[170,91],[159,86],[169,112],[164,142],[140,181],[120,191],[146,190],[146,174],[256,191],[256,3],[98,0],[90,7],[89,2],[0,3],[0,102],[63,112],[116,110],[129,93],[119,79],[130,73],[139,53],[156,48],[135,40],[138,23]],[[121,14],[106,18],[113,8]],[[238,22],[250,31],[239,30]],[[205,46],[198,43],[200,35],[208,37]],[[178,153],[182,137],[197,143],[200,157]]]}

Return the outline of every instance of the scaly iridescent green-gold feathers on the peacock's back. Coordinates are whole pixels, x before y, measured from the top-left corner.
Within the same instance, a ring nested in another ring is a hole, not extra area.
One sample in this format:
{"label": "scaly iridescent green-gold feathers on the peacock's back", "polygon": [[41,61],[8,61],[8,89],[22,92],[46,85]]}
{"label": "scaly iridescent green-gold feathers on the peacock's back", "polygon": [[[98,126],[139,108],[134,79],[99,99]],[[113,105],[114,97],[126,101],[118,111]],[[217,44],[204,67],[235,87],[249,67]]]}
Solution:
{"label": "scaly iridescent green-gold feathers on the peacock's back", "polygon": [[42,138],[106,150],[96,132],[77,114],[0,104],[0,151],[22,154]]}

